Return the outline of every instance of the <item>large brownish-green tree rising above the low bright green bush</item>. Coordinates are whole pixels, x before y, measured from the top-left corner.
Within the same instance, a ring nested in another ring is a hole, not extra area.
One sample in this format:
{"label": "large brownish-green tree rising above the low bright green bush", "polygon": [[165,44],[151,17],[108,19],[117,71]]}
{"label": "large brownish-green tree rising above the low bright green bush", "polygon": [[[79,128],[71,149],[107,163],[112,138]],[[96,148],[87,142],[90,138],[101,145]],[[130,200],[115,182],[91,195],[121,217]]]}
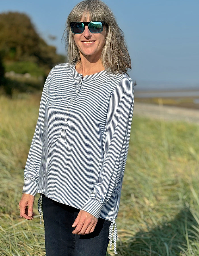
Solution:
{"label": "large brownish-green tree rising above the low bright green bush", "polygon": [[49,68],[63,61],[56,48],[39,36],[26,14],[1,13],[0,28],[0,49],[5,60],[31,61]]}

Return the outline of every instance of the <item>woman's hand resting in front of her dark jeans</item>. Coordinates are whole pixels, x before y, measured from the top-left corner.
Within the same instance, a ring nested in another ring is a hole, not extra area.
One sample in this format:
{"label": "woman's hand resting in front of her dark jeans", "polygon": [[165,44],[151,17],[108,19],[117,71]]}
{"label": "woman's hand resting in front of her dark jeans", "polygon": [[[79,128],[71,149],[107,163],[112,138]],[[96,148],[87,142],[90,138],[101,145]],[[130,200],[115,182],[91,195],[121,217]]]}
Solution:
{"label": "woman's hand resting in front of her dark jeans", "polygon": [[90,234],[94,231],[97,222],[98,219],[94,217],[92,214],[84,210],[80,210],[80,212],[77,215],[77,218],[72,224],[73,228],[76,227],[75,230],[73,230],[72,234]]}

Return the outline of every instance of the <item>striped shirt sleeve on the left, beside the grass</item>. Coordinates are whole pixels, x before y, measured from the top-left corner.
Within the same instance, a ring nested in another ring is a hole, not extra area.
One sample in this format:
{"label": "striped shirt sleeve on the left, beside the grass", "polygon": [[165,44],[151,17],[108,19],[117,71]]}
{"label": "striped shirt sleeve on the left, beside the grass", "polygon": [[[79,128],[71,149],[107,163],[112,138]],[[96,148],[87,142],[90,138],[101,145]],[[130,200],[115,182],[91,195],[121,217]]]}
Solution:
{"label": "striped shirt sleeve on the left, beside the grass", "polygon": [[43,87],[39,117],[24,170],[24,186],[22,193],[34,196],[36,195],[36,190],[38,186],[37,182],[41,164],[43,123],[45,116],[45,105],[48,101],[48,86],[50,82],[50,77],[51,72],[49,73]]}

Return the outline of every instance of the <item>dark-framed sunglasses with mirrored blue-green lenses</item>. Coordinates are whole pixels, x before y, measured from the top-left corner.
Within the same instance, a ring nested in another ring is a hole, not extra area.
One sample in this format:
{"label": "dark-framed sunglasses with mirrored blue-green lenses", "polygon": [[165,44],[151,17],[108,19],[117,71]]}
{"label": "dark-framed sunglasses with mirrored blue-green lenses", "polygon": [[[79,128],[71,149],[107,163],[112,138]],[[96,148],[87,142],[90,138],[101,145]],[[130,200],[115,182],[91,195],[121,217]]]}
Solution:
{"label": "dark-framed sunglasses with mirrored blue-green lenses", "polygon": [[73,34],[81,34],[84,32],[85,26],[88,26],[88,29],[91,33],[97,34],[103,31],[103,26],[105,22],[103,21],[91,21],[91,22],[71,22],[71,31]]}

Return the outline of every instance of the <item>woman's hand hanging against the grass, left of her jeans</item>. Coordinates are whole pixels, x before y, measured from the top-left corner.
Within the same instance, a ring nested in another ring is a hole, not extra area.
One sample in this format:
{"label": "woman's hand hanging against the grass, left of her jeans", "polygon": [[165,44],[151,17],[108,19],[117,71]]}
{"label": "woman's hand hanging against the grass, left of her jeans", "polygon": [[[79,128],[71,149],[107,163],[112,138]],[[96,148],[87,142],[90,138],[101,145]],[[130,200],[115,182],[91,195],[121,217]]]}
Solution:
{"label": "woman's hand hanging against the grass, left of her jeans", "polygon": [[27,219],[33,219],[33,204],[35,197],[29,194],[22,194],[21,200],[19,202],[20,216]]}

